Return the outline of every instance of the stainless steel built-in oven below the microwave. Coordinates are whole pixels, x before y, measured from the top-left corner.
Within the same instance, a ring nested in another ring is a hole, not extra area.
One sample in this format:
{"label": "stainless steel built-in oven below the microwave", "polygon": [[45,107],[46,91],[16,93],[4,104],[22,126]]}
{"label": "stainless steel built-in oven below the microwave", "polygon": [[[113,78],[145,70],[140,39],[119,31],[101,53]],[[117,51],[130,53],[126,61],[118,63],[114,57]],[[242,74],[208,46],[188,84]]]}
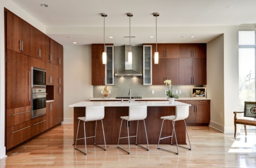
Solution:
{"label": "stainless steel built-in oven below the microwave", "polygon": [[32,89],[32,114],[31,118],[46,114],[46,88]]}

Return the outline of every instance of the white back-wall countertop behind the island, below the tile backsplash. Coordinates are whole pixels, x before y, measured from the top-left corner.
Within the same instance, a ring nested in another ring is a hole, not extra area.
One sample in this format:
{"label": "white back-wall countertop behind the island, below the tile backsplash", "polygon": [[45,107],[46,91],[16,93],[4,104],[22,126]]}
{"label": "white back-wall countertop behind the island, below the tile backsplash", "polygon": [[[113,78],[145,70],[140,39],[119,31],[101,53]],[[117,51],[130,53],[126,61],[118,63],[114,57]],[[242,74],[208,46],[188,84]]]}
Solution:
{"label": "white back-wall countertop behind the island, below the tile backsplash", "polygon": [[[121,99],[115,99],[115,98],[92,98],[90,99],[90,101],[109,101],[109,100],[116,100],[116,101],[121,101]],[[128,100],[128,99],[123,99],[123,100]],[[135,99],[136,101],[140,101],[140,100],[165,100],[167,101],[167,97],[160,97],[160,98],[142,98],[142,99]],[[175,100],[210,100],[207,98],[179,98],[179,99],[175,99]]]}

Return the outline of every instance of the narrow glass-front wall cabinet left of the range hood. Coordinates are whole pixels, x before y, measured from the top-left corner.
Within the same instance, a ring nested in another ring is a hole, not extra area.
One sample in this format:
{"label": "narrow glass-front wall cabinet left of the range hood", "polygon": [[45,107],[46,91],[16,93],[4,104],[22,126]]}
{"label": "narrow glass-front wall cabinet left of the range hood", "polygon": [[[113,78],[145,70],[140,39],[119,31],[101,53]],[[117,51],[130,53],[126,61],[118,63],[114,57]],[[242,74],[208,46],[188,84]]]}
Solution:
{"label": "narrow glass-front wall cabinet left of the range hood", "polygon": [[114,85],[114,46],[105,45],[107,64],[105,65],[105,85]]}

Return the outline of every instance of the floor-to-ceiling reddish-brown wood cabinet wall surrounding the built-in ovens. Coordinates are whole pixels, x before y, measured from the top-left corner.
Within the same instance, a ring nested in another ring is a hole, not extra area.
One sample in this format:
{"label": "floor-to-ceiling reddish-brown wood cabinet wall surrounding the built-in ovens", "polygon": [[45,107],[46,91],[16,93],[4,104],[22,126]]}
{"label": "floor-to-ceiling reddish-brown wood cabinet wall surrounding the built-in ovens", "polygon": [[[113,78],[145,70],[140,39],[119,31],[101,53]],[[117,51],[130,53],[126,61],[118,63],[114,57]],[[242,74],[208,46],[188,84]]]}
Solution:
{"label": "floor-to-ceiling reddish-brown wood cabinet wall surrounding the built-in ovens", "polygon": [[[63,121],[63,46],[7,9],[5,25],[5,144],[9,150]],[[36,118],[31,118],[31,67],[46,69],[47,97],[54,100],[47,103],[46,115]]]}

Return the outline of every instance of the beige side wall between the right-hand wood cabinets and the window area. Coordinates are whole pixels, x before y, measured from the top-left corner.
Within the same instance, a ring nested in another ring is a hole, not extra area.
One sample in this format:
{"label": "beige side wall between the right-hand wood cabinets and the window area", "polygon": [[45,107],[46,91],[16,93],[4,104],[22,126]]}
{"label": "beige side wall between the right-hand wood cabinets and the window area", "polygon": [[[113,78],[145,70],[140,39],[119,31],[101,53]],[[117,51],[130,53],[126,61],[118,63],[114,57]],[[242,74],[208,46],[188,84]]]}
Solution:
{"label": "beige side wall between the right-hand wood cabinets and the window area", "polygon": [[207,43],[207,98],[211,99],[210,126],[224,132],[224,35]]}

